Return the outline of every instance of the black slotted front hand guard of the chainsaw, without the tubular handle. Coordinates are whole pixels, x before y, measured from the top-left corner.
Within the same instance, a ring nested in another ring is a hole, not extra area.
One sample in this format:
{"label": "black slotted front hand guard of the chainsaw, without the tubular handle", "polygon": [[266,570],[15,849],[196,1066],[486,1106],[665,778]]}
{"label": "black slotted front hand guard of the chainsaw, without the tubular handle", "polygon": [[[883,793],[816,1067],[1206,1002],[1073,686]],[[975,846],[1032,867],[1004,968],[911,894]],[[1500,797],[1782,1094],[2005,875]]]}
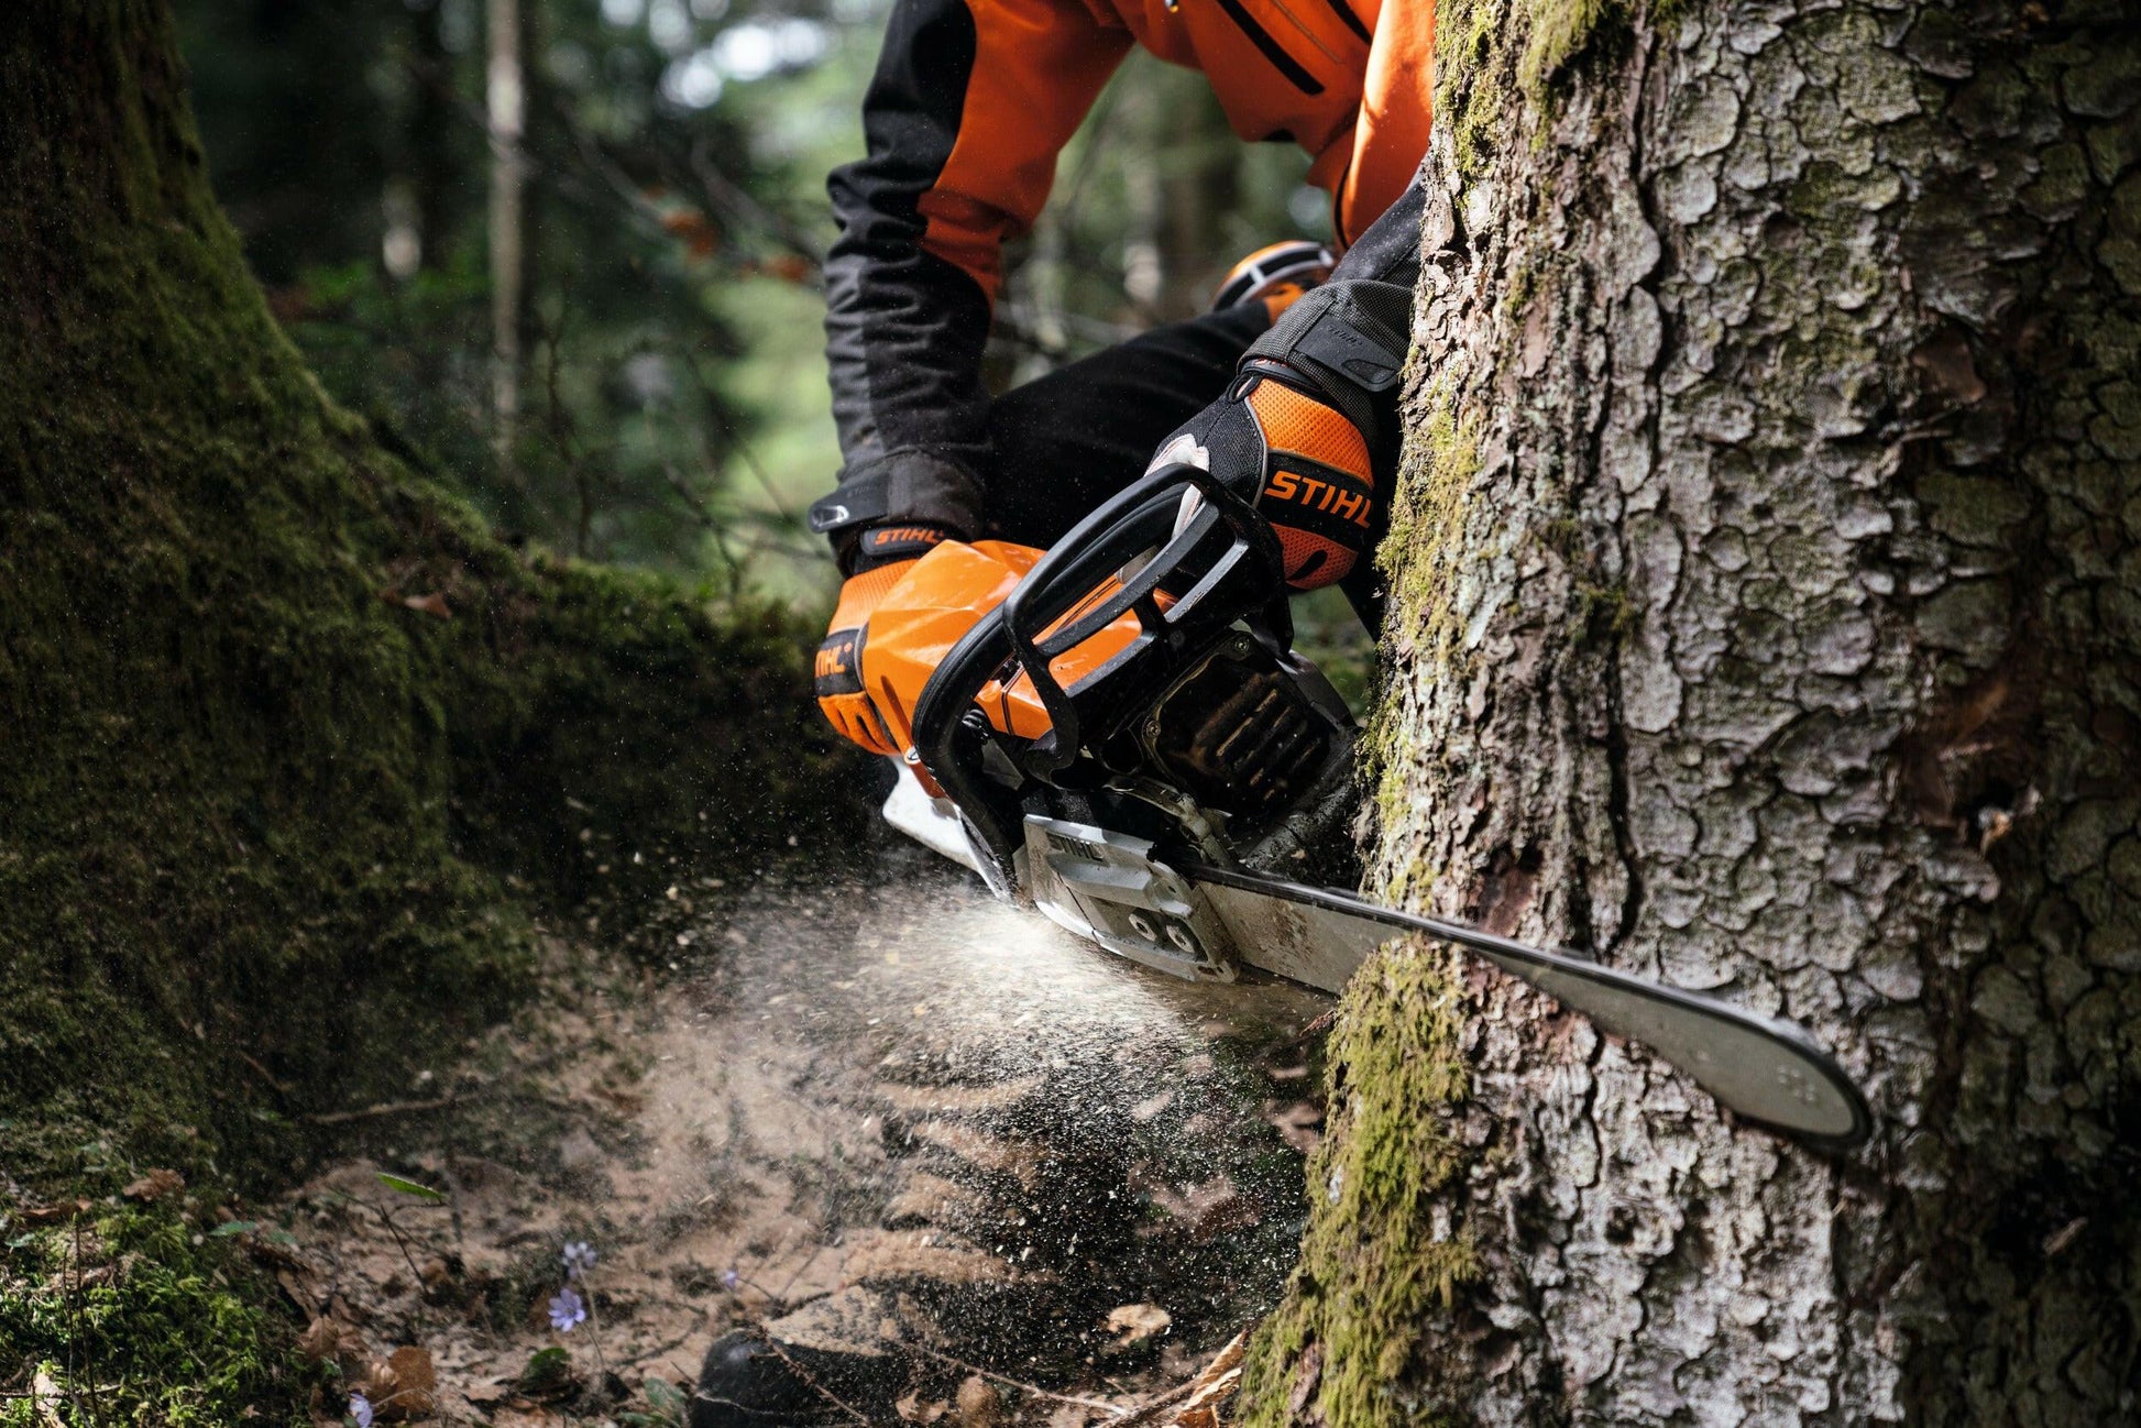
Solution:
{"label": "black slotted front hand guard of the chainsaw, without the tubular handle", "polygon": [[[1197,490],[1203,501],[1175,531],[1184,488]],[[1171,608],[1163,610],[1158,604],[1160,582],[1173,576],[1220,527],[1227,533],[1227,548],[1188,591],[1178,595]],[[1079,610],[1103,580],[1154,544],[1160,544],[1160,550],[1124,580],[1120,591],[1090,610]],[[1002,606],[1011,653],[1032,681],[1041,707],[1049,713],[1049,732],[1028,751],[1026,762],[1036,773],[1047,775],[1068,766],[1081,745],[1083,728],[1077,702],[1049,668],[1058,655],[1077,649],[1124,614],[1137,614],[1139,636],[1122,655],[1115,655],[1109,668],[1135,659],[1152,642],[1175,644],[1208,636],[1205,621],[1197,617],[1216,591],[1229,589],[1242,563],[1250,559],[1259,559],[1263,569],[1244,574],[1261,576],[1263,584],[1282,589],[1285,559],[1270,527],[1225,482],[1188,462],[1169,462],[1133,482],[1056,542],[1026,572]],[[1227,610],[1220,623],[1233,623],[1233,619],[1235,612]],[[1051,632],[1051,625],[1060,627]],[[1182,634],[1178,636],[1178,632]]]}

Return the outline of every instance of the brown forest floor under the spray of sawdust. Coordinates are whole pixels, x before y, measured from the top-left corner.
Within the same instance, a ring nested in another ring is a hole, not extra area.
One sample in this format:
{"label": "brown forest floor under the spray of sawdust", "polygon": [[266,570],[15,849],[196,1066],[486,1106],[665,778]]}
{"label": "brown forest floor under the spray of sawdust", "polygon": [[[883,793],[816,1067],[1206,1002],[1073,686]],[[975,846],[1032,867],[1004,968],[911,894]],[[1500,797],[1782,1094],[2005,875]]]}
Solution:
{"label": "brown forest floor under the spray of sawdust", "polygon": [[552,981],[231,1231],[383,1409],[679,1422],[773,1325],[884,1368],[824,1389],[850,1422],[1169,1422],[1285,1285],[1327,998],[1178,983],[912,859],[672,888]]}

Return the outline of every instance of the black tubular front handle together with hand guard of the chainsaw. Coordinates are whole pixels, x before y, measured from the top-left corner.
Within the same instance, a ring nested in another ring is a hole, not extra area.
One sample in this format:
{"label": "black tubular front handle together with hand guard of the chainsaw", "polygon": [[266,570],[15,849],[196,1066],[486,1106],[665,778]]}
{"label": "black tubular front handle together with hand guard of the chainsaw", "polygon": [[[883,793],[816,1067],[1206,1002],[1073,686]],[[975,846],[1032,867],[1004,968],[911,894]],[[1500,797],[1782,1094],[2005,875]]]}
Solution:
{"label": "black tubular front handle together with hand guard of the chainsaw", "polygon": [[[1175,529],[1188,490],[1203,499]],[[1152,559],[1122,578],[1154,548]],[[1163,589],[1173,597],[1165,608]],[[1137,638],[1077,689],[1066,689],[1051,662],[1124,614],[1137,617]],[[1004,604],[953,644],[914,707],[916,756],[1008,871],[1021,833],[1017,799],[991,796],[978,777],[981,745],[993,734],[985,721],[966,719],[983,685],[1011,659],[1032,681],[1049,732],[1013,762],[1047,779],[1077,760],[1090,730],[1107,736],[1143,713],[1186,655],[1244,617],[1261,617],[1282,644],[1291,642],[1278,537],[1248,501],[1201,467],[1160,467],[1073,527]]]}

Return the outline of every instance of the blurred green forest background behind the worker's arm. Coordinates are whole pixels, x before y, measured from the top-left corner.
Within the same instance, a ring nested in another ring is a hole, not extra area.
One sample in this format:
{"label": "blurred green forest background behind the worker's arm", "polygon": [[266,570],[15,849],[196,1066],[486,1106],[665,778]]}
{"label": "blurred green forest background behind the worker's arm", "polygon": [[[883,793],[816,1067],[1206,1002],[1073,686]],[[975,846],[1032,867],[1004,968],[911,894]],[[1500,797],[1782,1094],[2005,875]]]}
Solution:
{"label": "blurred green forest background behind the worker's arm", "polygon": [[[330,392],[510,537],[818,604],[826,171],[889,0],[178,0],[214,186]],[[1325,236],[1293,146],[1133,56],[1011,255],[991,381]]]}

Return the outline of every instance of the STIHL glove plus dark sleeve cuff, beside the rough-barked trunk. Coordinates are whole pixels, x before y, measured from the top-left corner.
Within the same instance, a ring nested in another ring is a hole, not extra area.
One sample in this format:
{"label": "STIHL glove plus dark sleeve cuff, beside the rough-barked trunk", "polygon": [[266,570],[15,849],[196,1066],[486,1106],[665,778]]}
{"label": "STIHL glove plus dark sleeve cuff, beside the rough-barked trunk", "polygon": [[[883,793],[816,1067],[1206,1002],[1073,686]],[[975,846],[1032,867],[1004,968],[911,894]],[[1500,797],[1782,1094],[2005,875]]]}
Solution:
{"label": "STIHL glove plus dark sleeve cuff, beside the rough-barked trunk", "polygon": [[[1411,291],[1338,283],[1295,300],[1242,360],[1227,396],[1160,445],[1250,497],[1272,522],[1287,584],[1345,580],[1377,537],[1379,435],[1396,426]],[[1394,319],[1394,321],[1390,321]]]}

